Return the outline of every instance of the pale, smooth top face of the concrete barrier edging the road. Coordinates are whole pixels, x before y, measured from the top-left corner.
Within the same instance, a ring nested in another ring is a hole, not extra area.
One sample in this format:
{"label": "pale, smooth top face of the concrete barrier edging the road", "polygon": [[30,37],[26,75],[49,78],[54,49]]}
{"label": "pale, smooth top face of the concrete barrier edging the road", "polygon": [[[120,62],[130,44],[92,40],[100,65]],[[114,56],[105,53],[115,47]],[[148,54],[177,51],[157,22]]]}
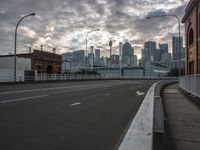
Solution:
{"label": "pale, smooth top face of the concrete barrier edging the road", "polygon": [[154,91],[156,84],[154,83],[148,90],[118,150],[152,149]]}

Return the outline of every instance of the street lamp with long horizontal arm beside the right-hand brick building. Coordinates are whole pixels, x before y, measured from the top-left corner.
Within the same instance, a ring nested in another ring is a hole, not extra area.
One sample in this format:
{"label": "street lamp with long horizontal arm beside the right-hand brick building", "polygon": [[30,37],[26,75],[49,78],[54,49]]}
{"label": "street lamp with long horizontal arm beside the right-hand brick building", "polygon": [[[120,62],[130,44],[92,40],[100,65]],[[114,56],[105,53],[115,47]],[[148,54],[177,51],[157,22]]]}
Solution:
{"label": "street lamp with long horizontal arm beside the right-hand brick building", "polygon": [[171,16],[171,17],[175,17],[176,19],[177,19],[177,21],[178,21],[178,30],[179,30],[179,48],[178,48],[178,53],[179,53],[179,57],[178,57],[178,63],[179,63],[179,65],[178,65],[178,76],[180,76],[181,75],[181,67],[180,67],[180,59],[181,59],[181,22],[180,22],[180,19],[179,19],[179,17],[177,16],[177,15],[174,15],[174,14],[165,14],[165,15],[160,15],[160,16],[148,16],[148,17],[146,17],[146,19],[151,19],[151,18],[160,18],[160,17],[169,17],[169,16]]}

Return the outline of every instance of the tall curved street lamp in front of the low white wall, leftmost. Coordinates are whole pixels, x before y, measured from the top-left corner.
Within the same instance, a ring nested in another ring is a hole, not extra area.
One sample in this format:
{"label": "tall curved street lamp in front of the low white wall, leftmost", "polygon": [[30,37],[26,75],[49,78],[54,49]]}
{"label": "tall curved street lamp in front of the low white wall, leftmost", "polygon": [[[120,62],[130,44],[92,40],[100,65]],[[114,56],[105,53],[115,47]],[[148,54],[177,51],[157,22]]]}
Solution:
{"label": "tall curved street lamp in front of the low white wall, leftmost", "polygon": [[22,17],[20,20],[19,20],[19,22],[17,23],[17,26],[16,26],[16,28],[15,28],[15,46],[14,46],[14,50],[15,50],[15,55],[14,55],[14,81],[16,82],[16,53],[17,53],[17,29],[18,29],[18,26],[19,26],[19,24],[20,24],[20,22],[23,20],[23,19],[25,19],[25,18],[27,18],[27,17],[29,17],[29,16],[35,16],[35,13],[31,13],[31,14],[29,14],[29,15],[26,15],[26,16],[24,16],[24,17]]}

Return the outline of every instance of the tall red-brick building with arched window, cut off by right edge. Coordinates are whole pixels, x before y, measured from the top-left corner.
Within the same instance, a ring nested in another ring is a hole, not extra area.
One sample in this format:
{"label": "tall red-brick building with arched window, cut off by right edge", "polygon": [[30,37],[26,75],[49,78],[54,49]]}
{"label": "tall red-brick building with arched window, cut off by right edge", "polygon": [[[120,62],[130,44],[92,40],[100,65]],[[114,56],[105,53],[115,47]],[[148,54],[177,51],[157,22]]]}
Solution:
{"label": "tall red-brick building with arched window, cut off by right edge", "polygon": [[200,73],[200,0],[190,0],[185,15],[185,74]]}

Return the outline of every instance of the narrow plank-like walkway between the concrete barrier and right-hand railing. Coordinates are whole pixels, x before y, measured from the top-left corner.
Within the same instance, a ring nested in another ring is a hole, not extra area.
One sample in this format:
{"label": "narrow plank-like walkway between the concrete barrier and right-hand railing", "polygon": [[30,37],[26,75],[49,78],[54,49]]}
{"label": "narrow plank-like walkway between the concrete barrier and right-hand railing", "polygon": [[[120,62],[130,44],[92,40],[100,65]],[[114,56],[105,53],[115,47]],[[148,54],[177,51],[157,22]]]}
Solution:
{"label": "narrow plank-like walkway between the concrete barrier and right-hand railing", "polygon": [[163,90],[167,124],[176,150],[200,149],[200,106],[178,89],[178,84]]}

